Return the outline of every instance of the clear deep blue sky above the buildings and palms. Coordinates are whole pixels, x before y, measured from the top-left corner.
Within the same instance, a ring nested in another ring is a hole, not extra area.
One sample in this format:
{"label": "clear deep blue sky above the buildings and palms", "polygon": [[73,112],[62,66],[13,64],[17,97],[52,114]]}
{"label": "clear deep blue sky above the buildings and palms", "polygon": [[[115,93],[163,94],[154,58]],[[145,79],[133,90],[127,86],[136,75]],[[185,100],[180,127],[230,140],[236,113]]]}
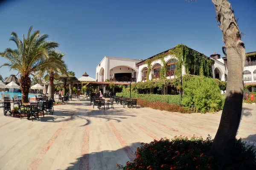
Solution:
{"label": "clear deep blue sky above the buildings and palms", "polygon": [[[256,0],[229,0],[246,52],[256,51]],[[209,56],[223,56],[221,30],[211,0],[11,0],[0,4],[0,52],[11,32],[30,26],[60,43],[68,69],[95,78],[104,56],[145,59],[183,43]],[[0,64],[6,62],[0,58]],[[0,69],[5,77],[17,71]]]}

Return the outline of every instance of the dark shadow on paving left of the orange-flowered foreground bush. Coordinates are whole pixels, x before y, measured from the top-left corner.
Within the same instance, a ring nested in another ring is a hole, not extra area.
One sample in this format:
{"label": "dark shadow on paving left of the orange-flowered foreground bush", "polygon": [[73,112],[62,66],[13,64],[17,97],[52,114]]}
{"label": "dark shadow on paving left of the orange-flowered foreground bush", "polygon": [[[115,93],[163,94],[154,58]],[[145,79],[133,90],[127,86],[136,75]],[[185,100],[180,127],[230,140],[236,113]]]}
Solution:
{"label": "dark shadow on paving left of the orange-flowered foreground bush", "polygon": [[[118,170],[116,164],[125,165],[127,161],[131,161],[125,152],[127,150],[136,149],[137,147],[140,147],[140,142],[122,147],[119,150],[104,150],[101,152],[84,154],[81,157],[76,158],[75,162],[70,163],[70,166],[67,167],[66,170],[88,168],[93,170]],[[135,154],[133,157],[135,158]]]}

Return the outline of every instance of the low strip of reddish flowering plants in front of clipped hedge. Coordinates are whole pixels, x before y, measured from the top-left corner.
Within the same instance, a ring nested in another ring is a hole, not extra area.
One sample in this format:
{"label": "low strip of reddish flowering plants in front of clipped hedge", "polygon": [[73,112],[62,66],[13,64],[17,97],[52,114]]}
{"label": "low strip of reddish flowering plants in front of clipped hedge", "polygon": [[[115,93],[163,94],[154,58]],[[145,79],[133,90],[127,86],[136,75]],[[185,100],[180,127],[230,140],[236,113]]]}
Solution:
{"label": "low strip of reddish flowering plants in front of clipped hedge", "polygon": [[152,109],[166,110],[169,112],[180,112],[180,113],[190,113],[190,110],[185,109],[184,107],[178,104],[169,104],[166,101],[148,101],[141,98],[137,99],[137,104],[143,107],[150,107]]}

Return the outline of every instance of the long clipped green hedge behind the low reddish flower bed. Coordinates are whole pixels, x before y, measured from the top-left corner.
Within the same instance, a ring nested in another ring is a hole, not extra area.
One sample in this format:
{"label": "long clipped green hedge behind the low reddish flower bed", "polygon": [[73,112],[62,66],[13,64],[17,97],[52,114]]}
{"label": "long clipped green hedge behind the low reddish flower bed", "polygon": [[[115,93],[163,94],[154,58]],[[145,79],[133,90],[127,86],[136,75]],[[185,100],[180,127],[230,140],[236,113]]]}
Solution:
{"label": "long clipped green hedge behind the low reddish flower bed", "polygon": [[[125,98],[130,97],[130,93],[116,93],[116,96],[121,96]],[[161,101],[161,102],[167,102],[169,104],[180,104],[180,95],[153,95],[153,94],[131,94],[132,98],[141,98],[143,100],[147,101]]]}

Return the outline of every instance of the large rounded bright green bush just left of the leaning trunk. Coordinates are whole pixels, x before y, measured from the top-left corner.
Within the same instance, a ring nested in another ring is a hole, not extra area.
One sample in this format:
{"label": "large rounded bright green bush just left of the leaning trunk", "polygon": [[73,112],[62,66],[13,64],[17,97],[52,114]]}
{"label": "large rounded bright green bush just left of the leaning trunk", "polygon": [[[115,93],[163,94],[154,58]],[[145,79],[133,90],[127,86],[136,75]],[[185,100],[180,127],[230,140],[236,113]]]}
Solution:
{"label": "large rounded bright green bush just left of the leaning trunk", "polygon": [[195,76],[183,83],[182,104],[187,109],[195,105],[196,112],[215,112],[222,109],[220,88],[212,78]]}

